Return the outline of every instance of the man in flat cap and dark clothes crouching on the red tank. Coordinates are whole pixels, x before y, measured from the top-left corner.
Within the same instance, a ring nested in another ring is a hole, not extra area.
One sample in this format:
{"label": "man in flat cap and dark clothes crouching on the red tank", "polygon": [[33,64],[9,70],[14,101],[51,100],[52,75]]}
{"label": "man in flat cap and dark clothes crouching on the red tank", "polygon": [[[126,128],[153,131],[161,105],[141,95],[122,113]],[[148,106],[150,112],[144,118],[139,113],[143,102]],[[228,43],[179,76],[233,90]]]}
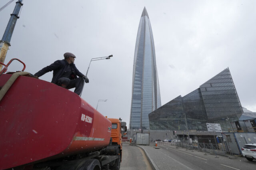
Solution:
{"label": "man in flat cap and dark clothes crouching on the red tank", "polygon": [[72,53],[64,53],[64,59],[55,61],[34,75],[40,77],[49,71],[53,71],[52,83],[66,89],[76,87],[74,93],[80,95],[84,80],[86,83],[89,83],[89,79],[76,68],[76,65],[74,64],[75,58],[76,56]]}

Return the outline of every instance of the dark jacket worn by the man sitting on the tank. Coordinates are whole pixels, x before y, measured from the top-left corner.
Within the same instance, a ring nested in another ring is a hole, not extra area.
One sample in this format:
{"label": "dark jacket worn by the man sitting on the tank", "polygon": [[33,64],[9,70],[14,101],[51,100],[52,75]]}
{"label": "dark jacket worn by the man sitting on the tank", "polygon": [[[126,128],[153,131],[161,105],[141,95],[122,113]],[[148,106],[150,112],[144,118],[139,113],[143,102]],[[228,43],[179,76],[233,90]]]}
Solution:
{"label": "dark jacket worn by the man sitting on the tank", "polygon": [[[48,73],[49,71],[53,71],[52,83],[57,84],[58,79],[64,75],[65,71],[67,71],[68,65],[69,65],[69,63],[65,59],[57,60],[54,63],[52,63],[51,65],[44,67],[43,69],[41,69],[34,75],[37,77],[40,77],[40,76],[44,75],[45,73]],[[73,78],[71,77],[71,79],[76,79],[77,76],[79,76],[79,77],[84,76],[76,68],[76,65],[74,63],[70,64],[70,68],[72,71],[72,75],[74,75]],[[68,77],[68,78],[70,78],[70,77]]]}

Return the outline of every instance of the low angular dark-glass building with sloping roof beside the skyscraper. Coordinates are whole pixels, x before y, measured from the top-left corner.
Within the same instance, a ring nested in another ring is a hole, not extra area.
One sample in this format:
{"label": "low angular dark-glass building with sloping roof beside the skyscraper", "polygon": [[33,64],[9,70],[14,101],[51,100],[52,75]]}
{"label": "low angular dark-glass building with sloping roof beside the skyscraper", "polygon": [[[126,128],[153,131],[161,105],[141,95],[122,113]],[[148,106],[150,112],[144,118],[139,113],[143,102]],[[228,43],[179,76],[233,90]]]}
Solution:
{"label": "low angular dark-glass building with sloping roof beside the skyscraper", "polygon": [[206,123],[219,123],[228,131],[232,128],[230,122],[238,121],[242,113],[226,68],[188,95],[178,96],[150,113],[150,130],[207,130]]}

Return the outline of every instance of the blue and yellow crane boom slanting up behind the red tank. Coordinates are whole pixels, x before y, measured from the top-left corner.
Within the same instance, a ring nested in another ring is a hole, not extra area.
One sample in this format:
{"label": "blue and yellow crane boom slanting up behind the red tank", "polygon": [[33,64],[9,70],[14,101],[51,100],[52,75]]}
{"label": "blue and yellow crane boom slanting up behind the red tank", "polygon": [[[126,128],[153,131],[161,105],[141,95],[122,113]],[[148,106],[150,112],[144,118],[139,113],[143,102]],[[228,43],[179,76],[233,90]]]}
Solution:
{"label": "blue and yellow crane boom slanting up behind the red tank", "polygon": [[[9,48],[10,41],[12,38],[12,33],[16,24],[16,21],[18,18],[20,18],[18,15],[20,13],[20,8],[22,7],[22,0],[18,0],[16,2],[16,6],[11,14],[10,20],[6,26],[4,35],[2,40],[0,41],[0,62],[4,63],[4,59],[6,57],[7,50]],[[2,70],[3,65],[0,64],[0,71]]]}

